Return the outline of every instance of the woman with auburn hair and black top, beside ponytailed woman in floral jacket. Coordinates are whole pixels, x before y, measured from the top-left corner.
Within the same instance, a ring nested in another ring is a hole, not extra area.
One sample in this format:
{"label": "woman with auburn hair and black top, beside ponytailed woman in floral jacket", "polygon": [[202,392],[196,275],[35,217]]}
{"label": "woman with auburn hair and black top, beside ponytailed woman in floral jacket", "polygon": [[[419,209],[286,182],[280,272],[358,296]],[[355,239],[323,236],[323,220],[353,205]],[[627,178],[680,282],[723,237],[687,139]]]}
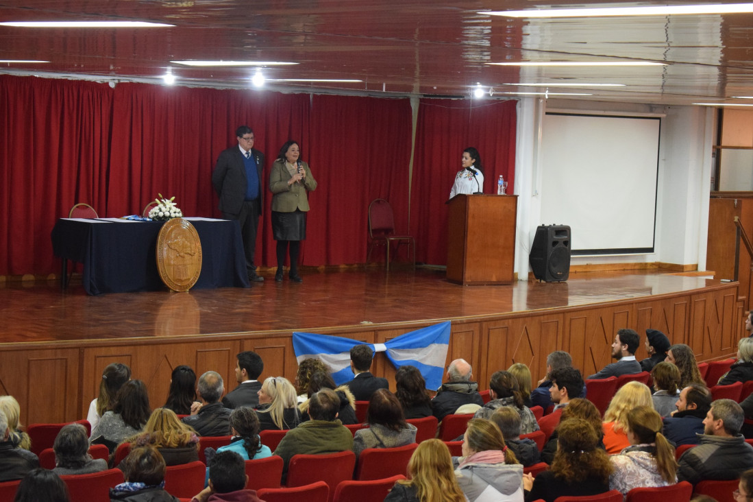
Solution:
{"label": "woman with auburn hair and black top, beside ponytailed woman in floral jacket", "polygon": [[599,448],[596,430],[581,418],[562,421],[557,427],[559,448],[549,470],[523,476],[526,502],[556,497],[596,495],[609,491],[613,467],[606,451]]}

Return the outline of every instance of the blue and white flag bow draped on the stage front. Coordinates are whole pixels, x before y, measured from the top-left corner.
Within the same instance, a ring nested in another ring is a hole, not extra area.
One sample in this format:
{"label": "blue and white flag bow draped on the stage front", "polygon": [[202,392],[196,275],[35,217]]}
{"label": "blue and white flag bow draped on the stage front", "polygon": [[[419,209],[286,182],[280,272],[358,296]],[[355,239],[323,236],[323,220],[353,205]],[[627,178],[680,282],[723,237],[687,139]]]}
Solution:
{"label": "blue and white flag bow draped on the stage front", "polygon": [[[340,336],[293,332],[293,350],[300,364],[313,357],[332,370],[338,385],[354,378],[350,369],[350,349],[364,342]],[[450,347],[450,321],[427,326],[392,338],[385,344],[367,344],[371,350],[386,352],[393,366],[416,366],[426,381],[426,388],[438,389],[444,375],[444,362]]]}

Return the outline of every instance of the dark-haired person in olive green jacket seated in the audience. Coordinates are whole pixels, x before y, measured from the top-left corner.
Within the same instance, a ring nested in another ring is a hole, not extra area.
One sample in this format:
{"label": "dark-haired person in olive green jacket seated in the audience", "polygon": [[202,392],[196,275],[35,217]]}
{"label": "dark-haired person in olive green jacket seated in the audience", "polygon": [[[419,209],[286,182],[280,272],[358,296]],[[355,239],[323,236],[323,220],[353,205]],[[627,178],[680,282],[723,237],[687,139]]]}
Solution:
{"label": "dark-haired person in olive green jacket seated in the audience", "polygon": [[339,409],[340,397],[334,390],[324,388],[309,398],[310,420],[285,434],[273,454],[285,461],[285,472],[297,453],[318,455],[353,449],[352,433],[337,420]]}

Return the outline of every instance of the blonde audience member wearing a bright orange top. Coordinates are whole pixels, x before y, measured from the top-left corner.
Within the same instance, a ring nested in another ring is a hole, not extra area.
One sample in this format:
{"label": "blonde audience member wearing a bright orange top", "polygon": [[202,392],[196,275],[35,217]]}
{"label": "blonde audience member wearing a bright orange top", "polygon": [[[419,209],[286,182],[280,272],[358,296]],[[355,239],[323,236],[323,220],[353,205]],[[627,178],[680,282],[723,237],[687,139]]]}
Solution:
{"label": "blonde audience member wearing a bright orange top", "polygon": [[630,446],[627,413],[636,406],[654,409],[651,390],[639,381],[629,381],[617,390],[604,414],[604,446],[609,455],[616,455]]}

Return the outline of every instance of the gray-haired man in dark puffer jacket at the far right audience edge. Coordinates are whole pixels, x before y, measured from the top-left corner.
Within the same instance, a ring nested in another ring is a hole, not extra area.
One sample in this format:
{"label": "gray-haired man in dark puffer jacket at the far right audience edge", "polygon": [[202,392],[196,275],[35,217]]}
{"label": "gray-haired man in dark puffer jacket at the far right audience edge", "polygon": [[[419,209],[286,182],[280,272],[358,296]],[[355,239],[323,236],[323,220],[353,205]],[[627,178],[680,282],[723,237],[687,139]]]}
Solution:
{"label": "gray-haired man in dark puffer jacket at the far right audience edge", "polygon": [[679,481],[736,479],[753,465],[753,446],[740,434],[742,409],[732,399],[717,399],[703,421],[700,444],[685,451],[677,471]]}

